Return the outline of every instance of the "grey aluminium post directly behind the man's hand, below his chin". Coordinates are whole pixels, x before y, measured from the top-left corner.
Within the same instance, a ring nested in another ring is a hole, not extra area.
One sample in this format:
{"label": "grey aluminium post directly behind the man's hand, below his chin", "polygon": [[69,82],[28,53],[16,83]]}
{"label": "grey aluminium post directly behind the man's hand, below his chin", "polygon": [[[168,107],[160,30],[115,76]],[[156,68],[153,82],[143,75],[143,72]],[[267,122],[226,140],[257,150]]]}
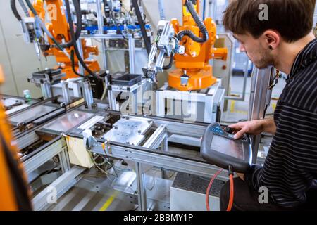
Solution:
{"label": "grey aluminium post directly behind the man's hand, below his chin", "polygon": [[[263,70],[255,69],[251,78],[251,94],[249,107],[249,120],[261,120],[265,117],[264,113],[267,105],[270,104],[272,91],[268,90],[274,68]],[[253,162],[256,163],[260,143],[260,136],[253,136],[252,148],[254,150]]]}

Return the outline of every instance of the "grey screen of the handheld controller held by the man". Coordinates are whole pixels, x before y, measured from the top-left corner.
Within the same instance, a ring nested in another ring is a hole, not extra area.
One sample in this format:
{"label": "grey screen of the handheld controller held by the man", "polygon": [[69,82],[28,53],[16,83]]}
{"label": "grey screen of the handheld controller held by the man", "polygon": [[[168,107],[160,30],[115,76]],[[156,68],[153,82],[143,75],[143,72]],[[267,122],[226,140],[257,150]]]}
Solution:
{"label": "grey screen of the handheld controller held by the man", "polygon": [[244,160],[243,146],[240,141],[226,139],[223,136],[213,135],[211,150]]}

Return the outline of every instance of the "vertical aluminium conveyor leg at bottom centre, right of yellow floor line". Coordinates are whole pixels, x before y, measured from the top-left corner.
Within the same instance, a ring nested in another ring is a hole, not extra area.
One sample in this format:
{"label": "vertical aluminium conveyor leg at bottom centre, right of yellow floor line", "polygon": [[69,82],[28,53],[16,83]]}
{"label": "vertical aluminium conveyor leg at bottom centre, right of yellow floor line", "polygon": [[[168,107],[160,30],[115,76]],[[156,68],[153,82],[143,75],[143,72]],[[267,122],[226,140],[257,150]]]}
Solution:
{"label": "vertical aluminium conveyor leg at bottom centre, right of yellow floor line", "polygon": [[147,211],[147,192],[145,190],[144,174],[142,171],[142,164],[135,162],[135,173],[137,174],[137,200],[139,203],[139,210]]}

